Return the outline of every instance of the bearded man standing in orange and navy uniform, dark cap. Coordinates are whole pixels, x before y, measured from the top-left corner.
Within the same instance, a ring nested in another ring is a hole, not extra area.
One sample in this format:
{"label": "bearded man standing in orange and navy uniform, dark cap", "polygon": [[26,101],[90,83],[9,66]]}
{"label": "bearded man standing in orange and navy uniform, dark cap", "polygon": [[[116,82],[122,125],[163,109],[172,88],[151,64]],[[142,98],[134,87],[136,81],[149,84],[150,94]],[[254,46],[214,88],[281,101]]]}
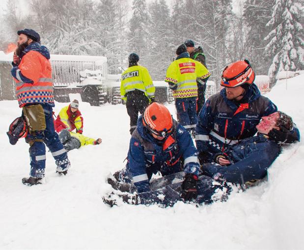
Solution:
{"label": "bearded man standing in orange and navy uniform, dark cap", "polygon": [[46,151],[50,149],[57,168],[66,174],[70,161],[54,128],[53,80],[49,50],[40,45],[40,35],[33,29],[17,32],[18,48],[13,57],[11,74],[16,82],[16,95],[22,116],[28,124],[26,141],[29,144],[30,176],[25,185],[40,184],[44,177]]}

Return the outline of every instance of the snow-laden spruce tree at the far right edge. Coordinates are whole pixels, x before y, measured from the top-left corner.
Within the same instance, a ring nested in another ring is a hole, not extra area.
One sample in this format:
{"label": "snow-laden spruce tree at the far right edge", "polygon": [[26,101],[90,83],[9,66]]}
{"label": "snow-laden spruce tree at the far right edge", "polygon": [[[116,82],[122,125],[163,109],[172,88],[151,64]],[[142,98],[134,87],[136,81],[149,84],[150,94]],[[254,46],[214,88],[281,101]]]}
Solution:
{"label": "snow-laden spruce tree at the far right edge", "polygon": [[295,71],[304,67],[302,9],[303,1],[297,0],[276,0],[273,6],[272,18],[267,24],[272,30],[265,38],[269,41],[265,52],[272,58],[268,71],[271,85],[279,71]]}

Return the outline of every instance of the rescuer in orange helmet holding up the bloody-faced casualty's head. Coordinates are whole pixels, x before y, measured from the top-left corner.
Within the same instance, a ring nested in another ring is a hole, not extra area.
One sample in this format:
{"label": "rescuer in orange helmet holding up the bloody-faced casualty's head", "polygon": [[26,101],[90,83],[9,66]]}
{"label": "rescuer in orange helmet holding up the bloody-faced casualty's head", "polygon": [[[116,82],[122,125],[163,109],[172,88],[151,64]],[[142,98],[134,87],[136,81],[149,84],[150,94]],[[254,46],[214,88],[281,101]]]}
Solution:
{"label": "rescuer in orange helmet holding up the bloody-faced casualty's head", "polygon": [[[220,93],[211,96],[200,111],[195,127],[195,142],[200,163],[213,162],[214,155],[250,138],[263,116],[277,111],[276,105],[260,94],[249,61],[237,61],[222,74]],[[276,140],[298,140],[298,129],[284,131]]]}

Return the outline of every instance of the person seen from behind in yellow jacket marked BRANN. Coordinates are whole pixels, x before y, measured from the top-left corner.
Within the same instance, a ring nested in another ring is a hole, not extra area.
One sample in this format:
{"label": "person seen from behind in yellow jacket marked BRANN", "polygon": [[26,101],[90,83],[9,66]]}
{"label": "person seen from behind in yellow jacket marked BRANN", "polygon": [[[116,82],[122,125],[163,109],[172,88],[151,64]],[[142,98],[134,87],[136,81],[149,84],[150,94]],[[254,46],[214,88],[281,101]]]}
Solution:
{"label": "person seen from behind in yellow jacket marked BRANN", "polygon": [[197,122],[196,80],[206,82],[211,74],[199,61],[189,58],[185,44],[177,48],[176,55],[176,60],[167,69],[165,81],[173,90],[177,119],[191,133]]}

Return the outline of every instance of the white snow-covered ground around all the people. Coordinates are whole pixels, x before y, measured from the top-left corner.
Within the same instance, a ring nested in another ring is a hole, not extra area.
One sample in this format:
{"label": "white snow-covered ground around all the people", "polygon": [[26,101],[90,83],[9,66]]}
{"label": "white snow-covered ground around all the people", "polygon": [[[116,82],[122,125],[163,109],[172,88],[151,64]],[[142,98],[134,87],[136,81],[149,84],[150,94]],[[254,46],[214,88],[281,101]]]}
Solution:
{"label": "white snow-covered ground around all the people", "polygon": [[[304,135],[304,75],[280,81],[268,97],[294,118]],[[56,103],[55,113],[67,104]],[[174,106],[167,106],[175,115]],[[80,104],[84,135],[101,145],[69,152],[66,176],[47,153],[46,183],[27,187],[28,144],[5,134],[20,115],[17,101],[1,101],[0,249],[303,249],[303,142],[286,146],[269,181],[227,202],[110,208],[101,196],[110,172],[124,167],[129,145],[125,106]],[[175,115],[176,116],[176,115]]]}

